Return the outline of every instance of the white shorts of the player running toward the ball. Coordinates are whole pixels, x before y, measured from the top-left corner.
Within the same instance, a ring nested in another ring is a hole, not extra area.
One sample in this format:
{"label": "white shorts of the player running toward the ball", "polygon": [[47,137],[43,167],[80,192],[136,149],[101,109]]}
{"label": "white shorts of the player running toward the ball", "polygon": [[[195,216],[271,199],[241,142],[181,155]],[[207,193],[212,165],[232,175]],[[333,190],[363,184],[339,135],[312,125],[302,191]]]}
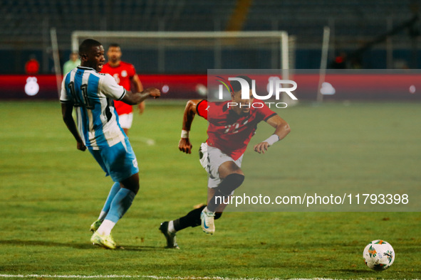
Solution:
{"label": "white shorts of the player running toward the ball", "polygon": [[[199,155],[202,155],[200,153],[203,154],[202,158],[200,158],[200,164],[202,164],[204,170],[206,170],[208,174],[207,187],[217,188],[222,181],[221,178],[219,178],[219,166],[224,162],[234,161],[234,159],[231,156],[224,154],[218,148],[208,146],[207,143],[202,143],[202,145],[200,145]],[[241,155],[237,161],[234,161],[239,168],[241,168],[243,156],[244,154]]]}

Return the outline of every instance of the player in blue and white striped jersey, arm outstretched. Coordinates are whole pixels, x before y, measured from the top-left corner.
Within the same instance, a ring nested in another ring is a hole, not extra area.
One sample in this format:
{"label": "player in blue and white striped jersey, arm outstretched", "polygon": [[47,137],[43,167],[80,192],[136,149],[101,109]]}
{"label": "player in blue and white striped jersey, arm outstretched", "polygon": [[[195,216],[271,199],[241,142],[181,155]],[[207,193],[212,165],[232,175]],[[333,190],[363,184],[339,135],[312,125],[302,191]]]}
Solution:
{"label": "player in blue and white striped jersey, arm outstretched", "polygon": [[[81,65],[64,77],[61,85],[63,121],[76,139],[80,151],[88,149],[114,184],[98,220],[93,222],[90,241],[108,249],[115,249],[111,230],[130,208],[139,190],[139,168],[115,113],[113,100],[139,104],[147,97],[160,97],[160,91],[150,87],[143,92],[130,92],[108,74],[100,74],[105,63],[104,48],[93,39],[79,46]],[[78,125],[73,121],[76,109]]]}

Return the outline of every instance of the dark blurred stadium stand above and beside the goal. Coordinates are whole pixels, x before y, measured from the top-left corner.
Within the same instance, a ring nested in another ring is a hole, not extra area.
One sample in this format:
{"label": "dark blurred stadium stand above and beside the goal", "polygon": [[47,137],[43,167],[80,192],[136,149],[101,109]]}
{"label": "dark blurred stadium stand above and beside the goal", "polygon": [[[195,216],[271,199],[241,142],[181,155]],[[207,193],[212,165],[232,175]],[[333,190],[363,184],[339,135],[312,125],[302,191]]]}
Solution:
{"label": "dark blurred stadium stand above and beside the goal", "polygon": [[[353,50],[407,21],[414,0],[266,0],[253,1],[244,31],[284,30],[296,36],[297,52],[320,50],[323,26],[331,26],[336,48]],[[67,56],[71,32],[93,31],[224,31],[235,9],[235,0],[2,0],[0,5],[0,54],[11,55],[10,64],[21,64],[28,53],[50,46],[50,28],[57,30],[58,43]],[[394,48],[411,51],[406,31],[394,38]],[[384,45],[383,45],[384,49]],[[383,50],[382,50],[383,51]],[[303,53],[310,55],[310,53]],[[299,68],[308,60],[297,60]],[[7,61],[6,61],[7,63]],[[381,63],[380,63],[381,64]],[[383,68],[383,65],[368,67]],[[48,72],[50,66],[44,67]],[[0,73],[19,72],[14,65]]]}

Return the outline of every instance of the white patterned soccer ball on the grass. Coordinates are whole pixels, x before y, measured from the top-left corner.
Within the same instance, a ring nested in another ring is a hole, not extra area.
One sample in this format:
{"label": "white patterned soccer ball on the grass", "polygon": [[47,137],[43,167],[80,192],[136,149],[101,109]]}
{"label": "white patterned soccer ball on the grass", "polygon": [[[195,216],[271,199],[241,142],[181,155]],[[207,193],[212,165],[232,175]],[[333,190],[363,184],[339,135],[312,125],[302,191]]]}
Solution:
{"label": "white patterned soccer ball on the grass", "polygon": [[395,250],[384,240],[374,240],[364,248],[363,258],[370,269],[382,271],[395,261]]}

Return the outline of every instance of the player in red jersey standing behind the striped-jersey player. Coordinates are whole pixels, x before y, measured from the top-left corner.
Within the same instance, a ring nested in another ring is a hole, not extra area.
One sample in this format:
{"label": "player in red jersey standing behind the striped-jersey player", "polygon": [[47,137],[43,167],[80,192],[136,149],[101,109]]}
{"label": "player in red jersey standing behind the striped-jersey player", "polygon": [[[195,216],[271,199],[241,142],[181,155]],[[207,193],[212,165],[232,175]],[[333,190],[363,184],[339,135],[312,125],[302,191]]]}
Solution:
{"label": "player in red jersey standing behind the striped-jersey player", "polygon": [[[136,92],[142,92],[143,85],[139,76],[136,74],[135,66],[130,63],[121,61],[121,48],[117,43],[113,43],[108,47],[107,56],[108,63],[105,63],[102,73],[112,75],[118,85],[122,85],[126,90],[130,90],[132,84],[135,86]],[[115,101],[115,110],[117,111],[120,126],[128,134],[133,122],[133,107],[125,104],[125,102]],[[145,109],[145,102],[138,104],[140,114]]]}

